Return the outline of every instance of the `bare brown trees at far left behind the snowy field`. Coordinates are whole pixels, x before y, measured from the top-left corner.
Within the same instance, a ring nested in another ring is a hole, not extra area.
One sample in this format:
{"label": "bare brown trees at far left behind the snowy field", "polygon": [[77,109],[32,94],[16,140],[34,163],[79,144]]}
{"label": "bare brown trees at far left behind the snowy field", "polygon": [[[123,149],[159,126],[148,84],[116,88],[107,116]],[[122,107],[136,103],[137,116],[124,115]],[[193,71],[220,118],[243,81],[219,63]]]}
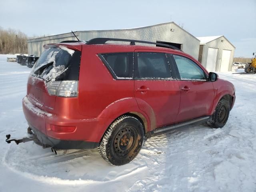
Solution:
{"label": "bare brown trees at far left behind the snowy field", "polygon": [[0,27],[0,54],[27,54],[27,39],[28,36],[20,30]]}

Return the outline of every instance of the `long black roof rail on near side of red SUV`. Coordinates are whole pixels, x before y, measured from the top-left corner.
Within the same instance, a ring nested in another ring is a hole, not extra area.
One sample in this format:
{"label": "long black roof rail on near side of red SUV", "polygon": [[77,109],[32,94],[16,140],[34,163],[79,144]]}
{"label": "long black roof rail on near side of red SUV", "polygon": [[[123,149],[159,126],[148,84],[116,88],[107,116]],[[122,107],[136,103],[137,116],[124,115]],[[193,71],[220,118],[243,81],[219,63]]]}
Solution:
{"label": "long black roof rail on near side of red SUV", "polygon": [[94,38],[94,39],[87,41],[86,45],[105,44],[107,41],[130,42],[130,45],[135,45],[135,43],[154,44],[154,45],[160,45],[160,46],[164,46],[166,48],[182,51],[177,47],[174,47],[174,46],[168,45],[168,44],[164,44],[164,43],[155,43],[155,42],[132,40],[132,39],[117,39],[117,38]]}

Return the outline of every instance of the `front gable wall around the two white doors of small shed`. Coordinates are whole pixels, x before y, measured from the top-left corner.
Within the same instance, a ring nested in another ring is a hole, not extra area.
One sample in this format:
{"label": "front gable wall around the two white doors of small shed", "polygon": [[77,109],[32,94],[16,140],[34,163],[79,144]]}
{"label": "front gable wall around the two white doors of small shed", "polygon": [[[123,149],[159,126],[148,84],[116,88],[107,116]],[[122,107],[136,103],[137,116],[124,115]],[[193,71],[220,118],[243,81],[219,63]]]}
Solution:
{"label": "front gable wall around the two white doors of small shed", "polygon": [[[224,40],[224,42],[221,42],[222,40]],[[231,51],[230,63],[229,63],[229,67],[228,67],[228,70],[231,71],[232,70],[232,63],[233,63],[233,59],[234,59],[235,47],[232,46],[232,44],[230,42],[228,42],[228,40],[224,36],[222,36],[222,37],[220,37],[216,40],[213,40],[211,42],[206,43],[204,45],[203,55],[202,55],[202,65],[204,67],[206,67],[206,61],[207,61],[207,55],[208,55],[208,48],[209,47],[218,49],[215,71],[220,71],[220,63],[221,63],[221,59],[222,59],[222,50],[230,50]]]}

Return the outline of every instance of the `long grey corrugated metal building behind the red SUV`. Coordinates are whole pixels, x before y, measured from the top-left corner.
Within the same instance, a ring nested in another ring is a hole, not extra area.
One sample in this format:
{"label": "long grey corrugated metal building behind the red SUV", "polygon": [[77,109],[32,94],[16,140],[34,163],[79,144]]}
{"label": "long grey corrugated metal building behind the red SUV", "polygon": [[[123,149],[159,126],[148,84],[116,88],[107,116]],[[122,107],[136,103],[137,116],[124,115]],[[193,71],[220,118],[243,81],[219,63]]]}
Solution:
{"label": "long grey corrugated metal building behind the red SUV", "polygon": [[[88,41],[92,38],[98,37],[108,37],[144,40],[151,42],[164,42],[166,44],[180,48],[196,59],[198,58],[199,53],[200,41],[174,22],[132,29],[76,31],[74,33],[79,38],[79,40],[82,41]],[[40,56],[44,50],[44,44],[58,43],[65,40],[76,40],[76,38],[70,32],[54,36],[30,39],[27,41],[28,54]]]}

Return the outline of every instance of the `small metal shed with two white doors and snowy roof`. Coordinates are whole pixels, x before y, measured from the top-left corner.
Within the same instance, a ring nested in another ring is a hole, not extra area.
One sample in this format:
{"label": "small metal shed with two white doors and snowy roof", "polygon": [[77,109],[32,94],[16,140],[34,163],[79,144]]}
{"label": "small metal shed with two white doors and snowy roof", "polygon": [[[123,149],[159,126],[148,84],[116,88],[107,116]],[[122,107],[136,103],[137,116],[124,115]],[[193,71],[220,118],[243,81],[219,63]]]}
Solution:
{"label": "small metal shed with two white doors and snowy roof", "polygon": [[198,37],[198,61],[208,71],[231,71],[235,47],[224,36]]}

